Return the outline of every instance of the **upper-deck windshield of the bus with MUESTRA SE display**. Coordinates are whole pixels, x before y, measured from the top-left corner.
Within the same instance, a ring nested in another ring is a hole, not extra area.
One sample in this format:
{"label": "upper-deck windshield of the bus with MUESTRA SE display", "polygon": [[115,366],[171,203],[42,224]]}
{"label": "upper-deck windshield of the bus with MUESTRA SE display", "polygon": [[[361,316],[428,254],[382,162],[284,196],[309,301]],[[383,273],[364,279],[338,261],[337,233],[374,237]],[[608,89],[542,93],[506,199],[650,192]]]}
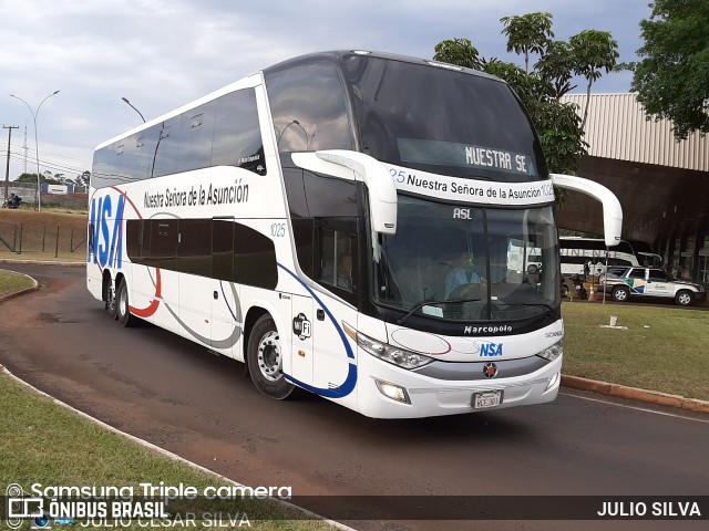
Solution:
{"label": "upper-deck windshield of the bus with MUESTRA SE display", "polygon": [[505,83],[371,56],[348,56],[345,64],[363,153],[454,177],[547,178],[538,140]]}

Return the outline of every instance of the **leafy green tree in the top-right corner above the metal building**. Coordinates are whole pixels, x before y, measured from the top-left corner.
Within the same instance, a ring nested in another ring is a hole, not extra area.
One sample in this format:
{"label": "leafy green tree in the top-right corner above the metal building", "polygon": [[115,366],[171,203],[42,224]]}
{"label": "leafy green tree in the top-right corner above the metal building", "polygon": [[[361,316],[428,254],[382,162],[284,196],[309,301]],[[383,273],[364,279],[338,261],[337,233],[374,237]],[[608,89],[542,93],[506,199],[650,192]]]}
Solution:
{"label": "leafy green tree in the top-right corner above the metal building", "polygon": [[656,0],[640,21],[645,45],[631,90],[648,117],[672,121],[677,139],[709,132],[709,2]]}

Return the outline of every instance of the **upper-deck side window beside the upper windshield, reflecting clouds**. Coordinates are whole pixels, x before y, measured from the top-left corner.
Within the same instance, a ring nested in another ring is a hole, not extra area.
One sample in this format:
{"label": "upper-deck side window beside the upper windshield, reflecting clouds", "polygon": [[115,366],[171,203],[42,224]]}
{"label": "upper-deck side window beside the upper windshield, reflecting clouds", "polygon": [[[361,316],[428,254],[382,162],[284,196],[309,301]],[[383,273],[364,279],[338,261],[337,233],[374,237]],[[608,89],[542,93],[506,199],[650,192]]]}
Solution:
{"label": "upper-deck side window beside the upper windshield, reflecting clouds", "polygon": [[333,63],[269,74],[266,88],[279,152],[352,149],[345,92]]}

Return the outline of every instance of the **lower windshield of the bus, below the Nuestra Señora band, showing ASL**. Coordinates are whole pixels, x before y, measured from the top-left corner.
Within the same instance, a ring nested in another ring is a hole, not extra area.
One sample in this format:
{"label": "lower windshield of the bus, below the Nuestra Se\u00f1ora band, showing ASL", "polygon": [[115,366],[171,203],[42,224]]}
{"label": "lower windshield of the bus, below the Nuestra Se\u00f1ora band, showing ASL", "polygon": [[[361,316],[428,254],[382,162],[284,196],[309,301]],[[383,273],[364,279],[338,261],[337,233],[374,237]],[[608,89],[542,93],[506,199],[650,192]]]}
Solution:
{"label": "lower windshield of the bus, below the Nuestra Se\u00f1ora band, showing ASL", "polygon": [[397,233],[379,242],[373,296],[381,305],[455,321],[558,313],[549,206],[461,207],[400,195]]}

